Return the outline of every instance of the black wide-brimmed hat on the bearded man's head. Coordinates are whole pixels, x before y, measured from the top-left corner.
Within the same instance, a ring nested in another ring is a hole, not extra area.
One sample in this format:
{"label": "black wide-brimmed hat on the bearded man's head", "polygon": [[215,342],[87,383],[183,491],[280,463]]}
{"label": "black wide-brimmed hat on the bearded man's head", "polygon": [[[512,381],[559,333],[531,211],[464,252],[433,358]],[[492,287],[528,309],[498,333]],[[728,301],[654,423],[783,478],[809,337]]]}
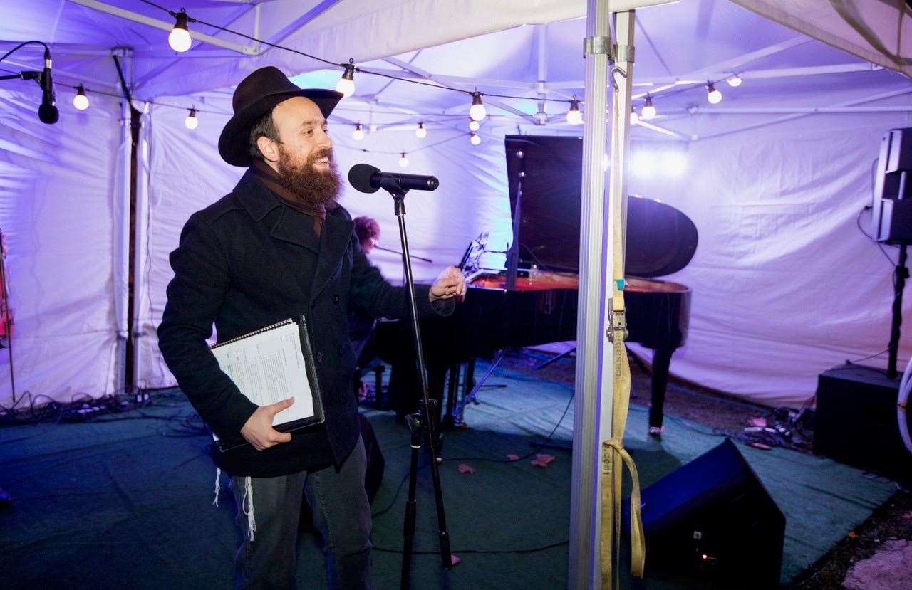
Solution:
{"label": "black wide-brimmed hat on the bearded man's head", "polygon": [[300,88],[275,66],[261,67],[241,80],[234,89],[234,116],[222,129],[219,154],[233,166],[250,165],[250,128],[280,102],[291,97],[307,97],[323,113],[329,113],[342,98],[341,92],[324,88]]}

